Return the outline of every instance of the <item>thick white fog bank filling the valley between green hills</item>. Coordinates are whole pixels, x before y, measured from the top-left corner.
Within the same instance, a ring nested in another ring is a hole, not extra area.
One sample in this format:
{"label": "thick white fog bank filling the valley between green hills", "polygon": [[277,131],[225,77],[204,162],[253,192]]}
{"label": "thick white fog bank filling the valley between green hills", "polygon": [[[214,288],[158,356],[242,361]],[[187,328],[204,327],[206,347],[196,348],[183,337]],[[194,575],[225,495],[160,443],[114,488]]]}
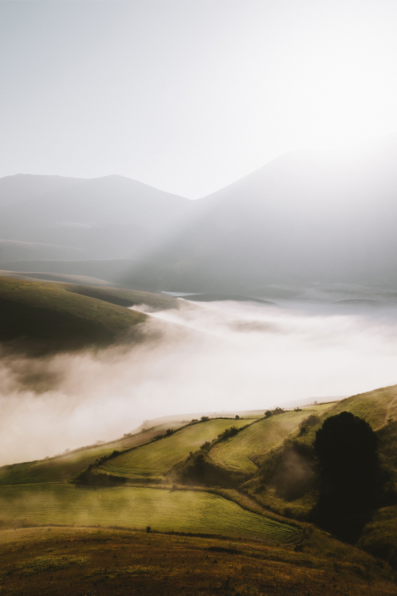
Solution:
{"label": "thick white fog bank filling the valley between green hills", "polygon": [[397,309],[183,302],[153,313],[145,333],[96,353],[4,353],[0,464],[115,439],[163,415],[265,410],[397,383]]}

